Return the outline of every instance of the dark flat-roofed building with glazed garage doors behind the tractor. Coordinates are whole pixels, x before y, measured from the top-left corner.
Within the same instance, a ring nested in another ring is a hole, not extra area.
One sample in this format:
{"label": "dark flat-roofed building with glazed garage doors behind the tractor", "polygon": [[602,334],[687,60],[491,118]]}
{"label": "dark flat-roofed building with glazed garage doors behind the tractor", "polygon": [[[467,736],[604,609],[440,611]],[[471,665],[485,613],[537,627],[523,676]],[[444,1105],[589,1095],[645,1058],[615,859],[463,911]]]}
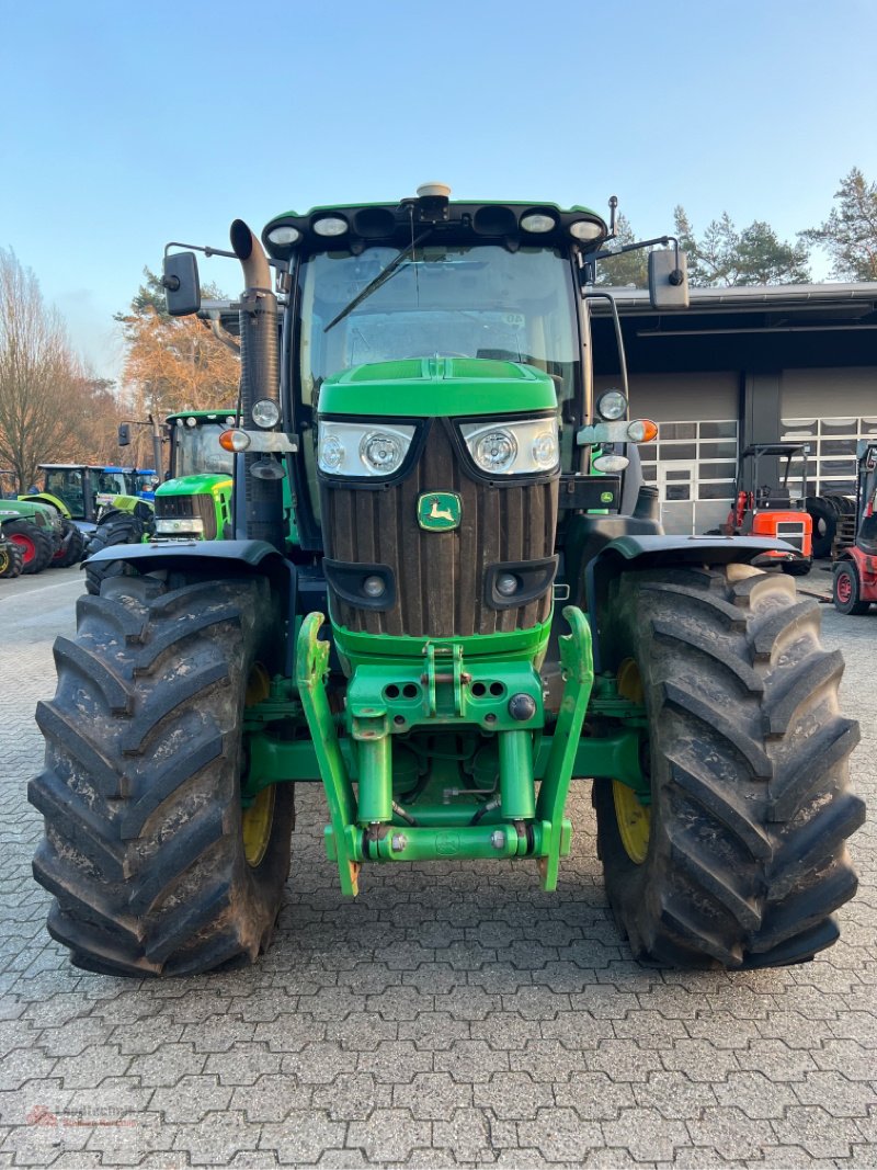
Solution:
{"label": "dark flat-roofed building with glazed garage doors behind the tractor", "polygon": [[[877,435],[877,284],[692,289],[686,312],[657,314],[641,289],[614,290],[631,415],[660,425],[643,447],[668,532],[703,532],[727,515],[748,443],[800,439],[793,495],[855,493],[856,440]],[[598,393],[619,385],[617,347],[595,303]],[[765,461],[767,482],[778,469]]]}

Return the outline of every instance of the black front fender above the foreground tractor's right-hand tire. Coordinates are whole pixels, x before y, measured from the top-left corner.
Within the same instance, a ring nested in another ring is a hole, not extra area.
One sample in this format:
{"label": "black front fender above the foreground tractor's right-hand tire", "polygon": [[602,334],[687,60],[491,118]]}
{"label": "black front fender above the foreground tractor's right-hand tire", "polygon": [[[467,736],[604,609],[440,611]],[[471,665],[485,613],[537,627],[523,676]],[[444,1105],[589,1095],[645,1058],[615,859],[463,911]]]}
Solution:
{"label": "black front fender above the foreground tractor's right-hand tire", "polygon": [[[585,566],[587,614],[594,635],[594,669],[601,669],[598,611],[605,600],[609,583],[622,573],[672,565],[751,565],[767,552],[789,553],[797,550],[785,541],[765,536],[620,536],[603,545]],[[771,564],[779,563],[772,557]]]}

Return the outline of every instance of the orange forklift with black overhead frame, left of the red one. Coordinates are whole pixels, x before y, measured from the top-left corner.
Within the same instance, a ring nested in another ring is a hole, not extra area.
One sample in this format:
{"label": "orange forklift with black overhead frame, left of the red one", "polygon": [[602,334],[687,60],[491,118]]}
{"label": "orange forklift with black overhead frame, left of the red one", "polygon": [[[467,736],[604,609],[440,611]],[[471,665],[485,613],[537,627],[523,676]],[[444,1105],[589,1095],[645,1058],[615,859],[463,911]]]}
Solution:
{"label": "orange forklift with black overhead frame, left of the red one", "polygon": [[[734,504],[725,524],[716,532],[726,536],[769,536],[792,545],[774,550],[785,572],[801,577],[813,565],[813,519],[807,511],[807,452],[802,443],[751,443],[740,452],[734,487]],[[792,460],[803,459],[803,493],[789,493]],[[767,480],[767,482],[764,482]]]}

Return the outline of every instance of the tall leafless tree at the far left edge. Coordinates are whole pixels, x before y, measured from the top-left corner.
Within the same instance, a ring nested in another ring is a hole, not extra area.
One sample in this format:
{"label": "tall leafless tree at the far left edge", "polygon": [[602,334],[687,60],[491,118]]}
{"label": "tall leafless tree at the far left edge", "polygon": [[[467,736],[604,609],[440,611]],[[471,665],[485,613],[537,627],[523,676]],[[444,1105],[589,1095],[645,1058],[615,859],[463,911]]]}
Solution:
{"label": "tall leafless tree at the far left edge", "polygon": [[43,461],[64,457],[82,370],[64,326],[15,254],[0,248],[0,463],[27,490]]}

